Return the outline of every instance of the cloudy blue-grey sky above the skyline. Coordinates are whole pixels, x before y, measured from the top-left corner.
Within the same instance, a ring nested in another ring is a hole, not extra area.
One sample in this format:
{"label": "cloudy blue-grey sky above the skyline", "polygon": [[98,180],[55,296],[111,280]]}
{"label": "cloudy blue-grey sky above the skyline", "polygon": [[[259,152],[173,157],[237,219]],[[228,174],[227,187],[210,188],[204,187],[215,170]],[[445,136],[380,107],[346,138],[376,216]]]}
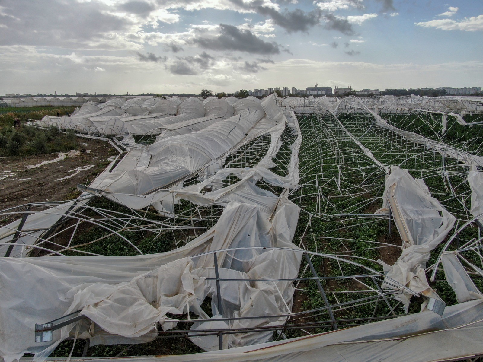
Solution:
{"label": "cloudy blue-grey sky above the skyline", "polygon": [[0,95],[483,86],[482,0],[0,0]]}

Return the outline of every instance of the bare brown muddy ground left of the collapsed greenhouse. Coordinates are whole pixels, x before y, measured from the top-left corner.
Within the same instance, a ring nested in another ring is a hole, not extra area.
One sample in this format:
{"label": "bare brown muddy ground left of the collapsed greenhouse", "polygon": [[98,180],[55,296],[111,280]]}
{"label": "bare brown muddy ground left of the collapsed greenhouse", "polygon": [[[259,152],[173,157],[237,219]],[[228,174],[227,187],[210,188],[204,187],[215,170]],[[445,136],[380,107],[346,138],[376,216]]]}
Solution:
{"label": "bare brown muddy ground left of the collapsed greenhouse", "polygon": [[[30,202],[69,200],[80,195],[76,188],[77,184],[89,184],[109,165],[107,159],[117,155],[118,152],[109,142],[84,138],[80,138],[79,142],[87,143],[87,146],[83,146],[81,150],[84,152],[79,156],[32,169],[28,169],[27,166],[53,160],[58,157],[58,153],[28,157],[1,157],[0,209]],[[86,150],[90,150],[90,153],[85,152]],[[69,172],[70,170],[88,165],[94,165],[94,167],[80,171],[70,179],[56,181],[70,176],[73,173]]]}

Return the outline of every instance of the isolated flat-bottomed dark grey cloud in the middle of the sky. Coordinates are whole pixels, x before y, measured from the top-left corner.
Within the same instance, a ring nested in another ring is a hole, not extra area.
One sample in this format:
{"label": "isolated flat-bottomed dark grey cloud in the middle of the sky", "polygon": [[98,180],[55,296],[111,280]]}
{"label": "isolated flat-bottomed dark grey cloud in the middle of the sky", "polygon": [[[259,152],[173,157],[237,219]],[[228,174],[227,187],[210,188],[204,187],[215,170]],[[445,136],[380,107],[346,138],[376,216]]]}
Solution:
{"label": "isolated flat-bottomed dark grey cloud in the middle of the sky", "polygon": [[231,50],[262,55],[280,54],[276,42],[264,42],[250,30],[240,30],[227,24],[220,24],[220,35],[216,38],[204,38],[200,35],[191,42],[210,50]]}

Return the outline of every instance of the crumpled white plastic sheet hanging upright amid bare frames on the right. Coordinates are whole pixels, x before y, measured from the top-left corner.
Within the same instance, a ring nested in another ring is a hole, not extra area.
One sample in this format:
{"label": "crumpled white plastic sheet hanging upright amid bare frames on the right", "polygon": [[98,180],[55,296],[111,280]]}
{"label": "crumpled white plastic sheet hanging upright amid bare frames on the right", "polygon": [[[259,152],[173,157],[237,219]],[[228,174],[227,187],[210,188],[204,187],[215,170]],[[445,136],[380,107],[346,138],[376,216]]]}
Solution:
{"label": "crumpled white plastic sheet hanging upright amid bare frames on the right", "polygon": [[[431,197],[423,180],[414,180],[408,170],[397,166],[391,167],[391,173],[386,178],[383,197],[391,208],[403,239],[403,251],[396,263],[392,266],[383,263],[386,277],[414,292],[431,292],[425,273],[429,253],[453,228],[455,217]],[[382,288],[394,287],[384,282]],[[440,299],[434,292],[431,293]],[[407,311],[411,296],[403,292],[395,298],[404,304]]]}

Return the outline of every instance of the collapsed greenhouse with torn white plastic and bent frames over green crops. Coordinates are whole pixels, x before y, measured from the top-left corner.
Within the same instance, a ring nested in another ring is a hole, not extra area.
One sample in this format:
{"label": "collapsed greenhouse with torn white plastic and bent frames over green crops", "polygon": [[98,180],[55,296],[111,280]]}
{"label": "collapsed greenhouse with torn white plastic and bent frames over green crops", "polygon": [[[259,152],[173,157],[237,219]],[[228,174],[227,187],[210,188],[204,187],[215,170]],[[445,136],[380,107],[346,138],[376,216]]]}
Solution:
{"label": "collapsed greenhouse with torn white plastic and bent frames over green crops", "polygon": [[482,124],[480,98],[276,95],[32,122],[119,154],[77,199],[1,211],[0,357],[474,361]]}

